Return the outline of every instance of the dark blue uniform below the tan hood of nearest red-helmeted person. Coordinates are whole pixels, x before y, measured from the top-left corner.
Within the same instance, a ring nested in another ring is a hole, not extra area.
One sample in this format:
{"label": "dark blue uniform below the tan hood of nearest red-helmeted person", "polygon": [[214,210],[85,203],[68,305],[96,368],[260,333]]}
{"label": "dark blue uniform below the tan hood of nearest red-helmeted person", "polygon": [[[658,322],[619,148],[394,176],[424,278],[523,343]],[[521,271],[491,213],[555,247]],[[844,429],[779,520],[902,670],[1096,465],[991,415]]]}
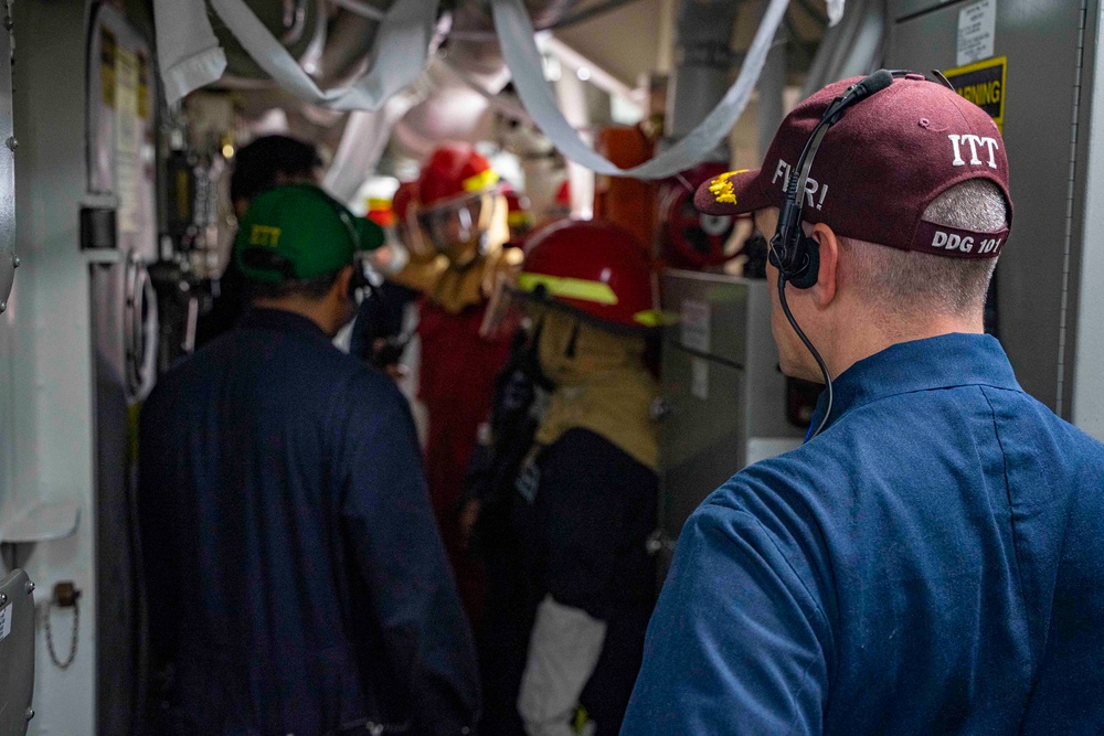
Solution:
{"label": "dark blue uniform below the tan hood of nearest red-helmeted person", "polygon": [[578,427],[544,448],[533,465],[533,529],[526,534],[533,602],[551,595],[605,622],[602,654],[580,702],[596,736],[616,734],[656,601],[656,563],[647,543],[657,524],[659,478],[605,437]]}

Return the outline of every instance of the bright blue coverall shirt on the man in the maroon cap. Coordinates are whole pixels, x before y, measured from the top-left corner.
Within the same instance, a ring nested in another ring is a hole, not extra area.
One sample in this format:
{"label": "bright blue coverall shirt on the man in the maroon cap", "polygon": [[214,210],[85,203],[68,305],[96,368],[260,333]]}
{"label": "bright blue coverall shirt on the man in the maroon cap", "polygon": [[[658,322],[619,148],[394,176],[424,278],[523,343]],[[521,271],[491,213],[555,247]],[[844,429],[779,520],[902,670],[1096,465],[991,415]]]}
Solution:
{"label": "bright blue coverall shirt on the man in the maroon cap", "polygon": [[1104,446],[987,335],[835,388],[687,522],[622,733],[1104,732]]}

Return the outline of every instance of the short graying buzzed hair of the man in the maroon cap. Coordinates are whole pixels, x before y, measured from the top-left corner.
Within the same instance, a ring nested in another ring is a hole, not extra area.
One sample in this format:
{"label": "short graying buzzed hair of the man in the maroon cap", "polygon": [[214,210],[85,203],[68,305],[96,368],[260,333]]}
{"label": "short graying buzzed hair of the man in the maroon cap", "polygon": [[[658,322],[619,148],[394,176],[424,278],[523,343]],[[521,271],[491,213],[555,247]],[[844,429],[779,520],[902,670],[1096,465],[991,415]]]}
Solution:
{"label": "short graying buzzed hair of the man in the maroon cap", "polygon": [[[935,198],[923,220],[989,233],[1008,222],[1008,205],[994,182],[969,179]],[[985,308],[996,258],[952,258],[850,237],[839,243],[853,266],[847,276],[852,286],[890,313],[969,317]]]}

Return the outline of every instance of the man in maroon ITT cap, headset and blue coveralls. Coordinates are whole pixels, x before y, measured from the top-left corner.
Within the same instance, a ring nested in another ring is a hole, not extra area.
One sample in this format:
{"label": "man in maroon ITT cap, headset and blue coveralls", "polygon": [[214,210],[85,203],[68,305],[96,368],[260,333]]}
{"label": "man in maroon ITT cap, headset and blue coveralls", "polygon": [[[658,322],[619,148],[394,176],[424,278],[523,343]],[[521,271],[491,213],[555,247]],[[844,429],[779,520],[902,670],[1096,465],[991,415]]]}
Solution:
{"label": "man in maroon ITT cap, headset and blue coveralls", "polygon": [[1104,729],[1104,446],[983,334],[1000,134],[902,76],[821,89],[698,192],[775,236],[783,371],[827,386],[683,527],[623,734]]}

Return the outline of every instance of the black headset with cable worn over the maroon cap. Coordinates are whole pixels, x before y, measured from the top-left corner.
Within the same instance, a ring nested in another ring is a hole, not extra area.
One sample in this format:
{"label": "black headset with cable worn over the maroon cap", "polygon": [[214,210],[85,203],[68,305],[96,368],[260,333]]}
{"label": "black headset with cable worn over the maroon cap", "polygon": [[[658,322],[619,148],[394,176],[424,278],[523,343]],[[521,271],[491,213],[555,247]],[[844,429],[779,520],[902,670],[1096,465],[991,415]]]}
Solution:
{"label": "black headset with cable worn over the maroon cap", "polygon": [[[794,319],[793,313],[789,311],[789,305],[786,302],[787,282],[797,289],[808,289],[816,285],[820,273],[820,245],[815,238],[806,235],[802,228],[802,213],[805,210],[805,184],[809,179],[809,171],[813,169],[813,161],[817,156],[817,150],[820,148],[820,141],[824,140],[828,128],[840,121],[847,108],[885,89],[893,84],[895,77],[904,77],[910,74],[915,73],[902,70],[893,72],[878,70],[843,90],[843,94],[836,97],[828,105],[824,115],[820,116],[820,121],[813,128],[808,140],[805,141],[805,148],[802,149],[802,156],[797,159],[797,164],[789,170],[785,198],[778,211],[778,227],[774,232],[774,237],[771,238],[769,259],[771,265],[778,269],[778,299],[782,302],[782,310],[785,312],[786,319],[794,328],[797,337],[800,338],[802,342],[805,343],[805,346],[813,354],[825,378],[828,405],[824,417],[820,419],[820,425],[816,428],[816,431],[813,431],[810,427],[807,439],[819,435],[820,430],[828,424],[828,417],[831,416],[832,386],[828,366],[825,364],[824,359],[820,358],[817,349],[805,337],[805,332],[798,327],[797,320]],[[933,71],[932,74],[936,79],[928,79],[930,82],[943,84],[954,90],[954,86],[947,82],[947,78],[943,74],[937,71]]]}

